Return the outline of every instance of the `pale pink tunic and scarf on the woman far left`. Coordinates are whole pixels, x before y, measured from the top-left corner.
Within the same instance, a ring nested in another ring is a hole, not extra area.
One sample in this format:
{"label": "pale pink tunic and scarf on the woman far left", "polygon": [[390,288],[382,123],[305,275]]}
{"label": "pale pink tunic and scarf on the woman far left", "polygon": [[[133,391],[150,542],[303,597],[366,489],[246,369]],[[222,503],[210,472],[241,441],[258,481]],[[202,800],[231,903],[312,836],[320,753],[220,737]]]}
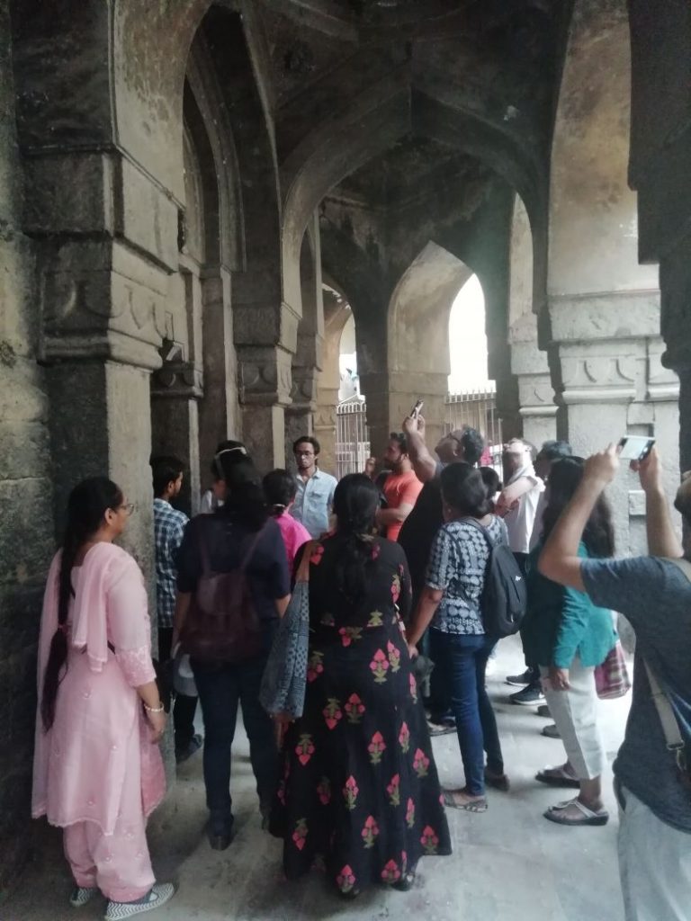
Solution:
{"label": "pale pink tunic and scarf on the woman far left", "polygon": [[[43,598],[39,701],[57,627],[61,553],[53,558]],[[43,731],[40,709],[36,719],[31,814],[62,827],[93,822],[112,835],[121,804],[135,791],[143,816],[165,793],[158,745],[135,691],[155,678],[146,589],[135,560],[107,542],[88,551],[72,571],[72,584],[67,670],[52,729]]]}

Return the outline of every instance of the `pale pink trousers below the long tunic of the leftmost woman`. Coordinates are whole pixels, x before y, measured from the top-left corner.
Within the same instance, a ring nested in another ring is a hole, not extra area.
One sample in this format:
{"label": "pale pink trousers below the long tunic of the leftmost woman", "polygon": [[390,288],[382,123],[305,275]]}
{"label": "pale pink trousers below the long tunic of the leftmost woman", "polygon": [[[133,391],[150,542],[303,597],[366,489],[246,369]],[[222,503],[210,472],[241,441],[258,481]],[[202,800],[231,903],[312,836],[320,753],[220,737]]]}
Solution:
{"label": "pale pink trousers below the long tunic of the leftmost woman", "polygon": [[95,822],[64,829],[64,854],[77,886],[98,887],[113,902],[135,902],[155,882],[146,844],[146,823],[139,815],[118,819],[105,835]]}

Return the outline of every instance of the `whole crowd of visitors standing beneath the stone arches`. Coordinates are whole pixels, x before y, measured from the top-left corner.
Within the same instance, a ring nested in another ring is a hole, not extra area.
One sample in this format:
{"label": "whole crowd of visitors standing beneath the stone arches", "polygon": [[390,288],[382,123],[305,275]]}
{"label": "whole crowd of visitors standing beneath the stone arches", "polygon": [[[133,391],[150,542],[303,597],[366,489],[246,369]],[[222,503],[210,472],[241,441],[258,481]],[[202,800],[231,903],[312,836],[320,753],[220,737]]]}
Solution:
{"label": "whole crowd of visitors standing beneath the stone arches", "polygon": [[[615,762],[627,921],[687,917],[691,564],[659,457],[653,449],[635,465],[652,555],[615,559],[603,490],[617,472],[616,449],[584,461],[566,442],[536,451],[515,438],[504,446],[501,482],[482,464],[474,429],[451,432],[432,451],[422,416],[402,428],[383,470],[372,460],[340,482],[321,470],[313,437],[293,446],[296,472],[264,477],[240,441],[224,441],[193,519],[175,507],[184,463],[152,458],[158,661],[144,577],[114,543],[134,508],[107,479],[75,487],[41,618],[32,802],[35,817],[64,828],[73,905],[101,892],[114,921],[173,895],[154,880],[146,818],[164,795],[165,688],[185,668],[186,682],[174,682],[175,757],[202,751],[213,848],[233,835],[241,706],[261,822],[283,840],[287,878],[322,866],[348,899],[373,883],[410,889],[422,857],[451,854],[445,807],[482,813],[488,787],[509,791],[486,691],[498,635],[484,601],[492,554],[508,547],[527,589],[525,670],[507,676],[521,686],[510,699],[544,708],[554,720],[545,734],[564,745],[566,760],[536,779],[576,791],[545,818],[608,821],[594,672],[617,646],[620,612],[638,640]],[[691,478],[675,505],[691,528]],[[287,719],[264,709],[260,689],[298,573],[309,578],[306,691],[301,715]],[[214,618],[221,594],[232,592],[250,624],[242,635]],[[670,744],[653,690],[673,700],[682,745]],[[204,737],[194,729],[197,702]],[[464,785],[442,790],[432,739],[448,732],[458,737]]]}

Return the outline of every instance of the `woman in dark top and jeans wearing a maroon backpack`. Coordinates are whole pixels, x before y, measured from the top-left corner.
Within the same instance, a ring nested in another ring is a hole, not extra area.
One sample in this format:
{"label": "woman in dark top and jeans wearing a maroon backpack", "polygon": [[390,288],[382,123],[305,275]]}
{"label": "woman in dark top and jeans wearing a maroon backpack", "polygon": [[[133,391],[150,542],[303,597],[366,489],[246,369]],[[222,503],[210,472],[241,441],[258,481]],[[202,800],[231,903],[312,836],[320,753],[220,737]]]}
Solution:
{"label": "woman in dark top and jeans wearing a maroon backpack", "polygon": [[290,594],[286,548],[269,517],[262,480],[247,449],[226,442],[215,459],[226,484],[212,515],[187,525],[178,556],[175,636],[190,655],[204,717],[209,842],[230,844],[230,757],[238,705],[250,740],[264,821],[275,793],[274,725],[259,703],[264,665]]}

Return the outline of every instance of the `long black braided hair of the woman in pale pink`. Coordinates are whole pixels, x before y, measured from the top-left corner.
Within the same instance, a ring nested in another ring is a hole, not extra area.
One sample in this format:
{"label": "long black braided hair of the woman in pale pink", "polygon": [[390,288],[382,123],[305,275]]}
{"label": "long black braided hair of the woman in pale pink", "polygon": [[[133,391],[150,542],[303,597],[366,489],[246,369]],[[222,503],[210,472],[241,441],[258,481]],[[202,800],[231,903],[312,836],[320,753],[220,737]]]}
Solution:
{"label": "long black braided hair of the woman in pale pink", "polygon": [[67,499],[67,524],[64,529],[63,554],[58,577],[58,625],[51,640],[48,664],[43,674],[41,720],[47,732],[55,719],[55,701],[64,678],[67,661],[67,614],[72,588],[72,567],[83,543],[99,530],[109,508],[123,503],[122,490],[104,476],[90,477],[77,484]]}

